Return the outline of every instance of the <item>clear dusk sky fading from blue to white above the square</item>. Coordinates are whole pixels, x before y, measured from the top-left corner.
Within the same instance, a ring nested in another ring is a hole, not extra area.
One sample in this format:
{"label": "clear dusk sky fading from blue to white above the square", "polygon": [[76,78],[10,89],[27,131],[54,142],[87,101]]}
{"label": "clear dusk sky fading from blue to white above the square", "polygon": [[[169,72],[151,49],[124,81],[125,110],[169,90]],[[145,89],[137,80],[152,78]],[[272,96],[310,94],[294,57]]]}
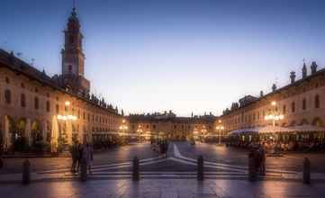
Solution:
{"label": "clear dusk sky fading from blue to white above the square", "polygon": [[[77,0],[91,89],[124,112],[220,114],[325,66],[325,1]],[[60,73],[72,0],[1,0],[0,48]],[[310,72],[310,71],[309,71]]]}

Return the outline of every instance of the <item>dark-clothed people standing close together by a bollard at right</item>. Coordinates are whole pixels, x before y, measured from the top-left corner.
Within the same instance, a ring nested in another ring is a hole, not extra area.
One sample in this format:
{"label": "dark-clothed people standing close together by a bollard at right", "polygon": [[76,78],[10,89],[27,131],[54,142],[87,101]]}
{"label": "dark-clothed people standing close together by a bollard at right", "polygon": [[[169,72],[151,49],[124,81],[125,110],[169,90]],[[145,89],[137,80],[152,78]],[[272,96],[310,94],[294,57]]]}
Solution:
{"label": "dark-clothed people standing close together by a bollard at right", "polygon": [[259,175],[266,174],[266,151],[261,145],[251,148],[248,153],[248,158],[252,163],[250,165],[252,166],[251,168],[254,168],[256,173],[259,173]]}

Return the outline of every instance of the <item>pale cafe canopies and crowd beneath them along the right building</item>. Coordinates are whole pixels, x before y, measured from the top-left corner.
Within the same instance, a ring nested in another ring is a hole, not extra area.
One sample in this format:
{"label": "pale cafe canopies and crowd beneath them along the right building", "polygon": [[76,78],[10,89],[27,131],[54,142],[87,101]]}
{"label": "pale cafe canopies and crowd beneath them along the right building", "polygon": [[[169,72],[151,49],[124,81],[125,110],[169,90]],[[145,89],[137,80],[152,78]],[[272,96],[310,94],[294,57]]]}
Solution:
{"label": "pale cafe canopies and crowd beneath them along the right building", "polygon": [[260,145],[268,151],[322,151],[325,150],[325,128],[315,125],[246,128],[230,131],[227,142],[239,148]]}

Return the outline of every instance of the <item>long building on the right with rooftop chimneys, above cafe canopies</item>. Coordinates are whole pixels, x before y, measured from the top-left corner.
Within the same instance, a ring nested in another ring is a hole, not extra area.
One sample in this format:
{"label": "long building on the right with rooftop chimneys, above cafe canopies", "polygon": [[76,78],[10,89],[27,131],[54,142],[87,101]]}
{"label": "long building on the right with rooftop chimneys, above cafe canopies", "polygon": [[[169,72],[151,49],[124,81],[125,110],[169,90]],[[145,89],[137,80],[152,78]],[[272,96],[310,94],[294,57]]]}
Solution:
{"label": "long building on the right with rooftop chimneys, above cafe canopies", "polygon": [[[307,74],[307,70],[311,74]],[[223,112],[221,121],[225,131],[265,127],[273,124],[265,119],[271,112],[284,115],[282,120],[275,121],[276,126],[291,127],[314,125],[324,127],[325,121],[325,69],[317,70],[316,62],[307,69],[303,63],[302,79],[295,80],[295,73],[290,73],[290,85],[276,89],[259,97],[247,95],[232,103],[231,108]],[[275,102],[275,105],[271,103]]]}

